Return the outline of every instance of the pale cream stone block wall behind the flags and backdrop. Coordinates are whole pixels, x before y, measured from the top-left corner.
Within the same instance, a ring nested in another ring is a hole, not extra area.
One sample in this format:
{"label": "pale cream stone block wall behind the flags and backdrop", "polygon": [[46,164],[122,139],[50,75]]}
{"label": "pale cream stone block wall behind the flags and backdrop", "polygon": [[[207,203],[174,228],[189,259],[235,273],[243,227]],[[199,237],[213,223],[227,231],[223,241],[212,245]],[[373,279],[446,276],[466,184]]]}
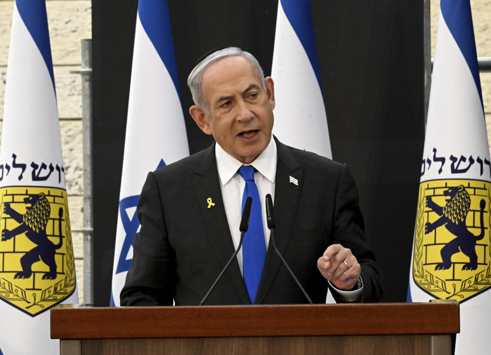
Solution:
{"label": "pale cream stone block wall behind the flags and backdrop", "polygon": [[[420,0],[422,2],[422,0]],[[81,78],[70,74],[80,68],[80,40],[92,38],[90,0],[47,0],[60,130],[73,229],[82,228],[82,122]],[[491,56],[491,0],[472,0],[478,56]],[[0,119],[3,118],[13,0],[0,0]],[[432,54],[435,48],[439,1],[431,1]],[[488,137],[491,132],[491,73],[481,73]],[[1,132],[1,128],[0,128]],[[489,139],[491,141],[491,139]],[[83,238],[73,233],[80,302],[83,302]]]}

